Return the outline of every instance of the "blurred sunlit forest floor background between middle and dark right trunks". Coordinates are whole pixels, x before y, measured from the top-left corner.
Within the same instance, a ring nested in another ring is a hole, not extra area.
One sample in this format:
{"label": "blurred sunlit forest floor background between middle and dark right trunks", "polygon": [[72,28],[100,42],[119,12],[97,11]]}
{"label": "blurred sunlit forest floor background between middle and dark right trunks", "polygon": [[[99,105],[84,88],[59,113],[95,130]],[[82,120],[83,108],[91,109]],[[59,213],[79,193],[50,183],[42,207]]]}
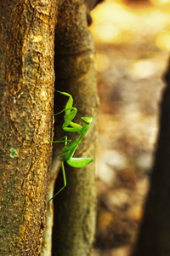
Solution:
{"label": "blurred sunlit forest floor background between middle and dark right trunks", "polygon": [[91,15],[100,102],[93,256],[129,256],[150,187],[170,1],[105,0]]}

